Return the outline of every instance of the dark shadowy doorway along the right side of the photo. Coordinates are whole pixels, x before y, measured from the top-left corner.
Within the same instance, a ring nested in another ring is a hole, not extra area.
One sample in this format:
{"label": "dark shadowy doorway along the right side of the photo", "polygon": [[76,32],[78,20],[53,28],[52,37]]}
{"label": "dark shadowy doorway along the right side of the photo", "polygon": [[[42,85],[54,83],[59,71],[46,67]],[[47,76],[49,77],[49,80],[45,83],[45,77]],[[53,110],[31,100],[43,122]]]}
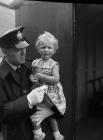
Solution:
{"label": "dark shadowy doorway along the right side of the photo", "polygon": [[76,140],[103,139],[103,5],[75,11]]}

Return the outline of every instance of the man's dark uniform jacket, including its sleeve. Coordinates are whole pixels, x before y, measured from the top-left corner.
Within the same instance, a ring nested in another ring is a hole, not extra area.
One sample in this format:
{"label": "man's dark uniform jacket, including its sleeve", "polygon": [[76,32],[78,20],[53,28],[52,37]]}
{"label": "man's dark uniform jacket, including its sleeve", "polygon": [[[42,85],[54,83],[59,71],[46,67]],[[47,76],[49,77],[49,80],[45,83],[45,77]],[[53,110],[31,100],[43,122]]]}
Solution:
{"label": "man's dark uniform jacket, including its sleeve", "polygon": [[27,93],[30,92],[30,70],[22,65],[22,79],[3,60],[0,65],[0,121],[4,140],[33,140],[31,111]]}

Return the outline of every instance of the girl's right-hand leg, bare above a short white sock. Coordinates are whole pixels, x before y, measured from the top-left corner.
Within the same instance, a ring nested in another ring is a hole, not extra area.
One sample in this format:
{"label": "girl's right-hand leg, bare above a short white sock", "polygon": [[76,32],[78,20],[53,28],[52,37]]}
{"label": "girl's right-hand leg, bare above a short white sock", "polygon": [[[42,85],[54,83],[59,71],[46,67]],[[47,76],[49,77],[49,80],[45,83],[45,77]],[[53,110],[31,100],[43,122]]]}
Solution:
{"label": "girl's right-hand leg, bare above a short white sock", "polygon": [[64,140],[64,136],[61,135],[61,133],[59,131],[56,119],[49,117],[48,122],[49,122],[50,128],[52,130],[54,139],[55,140]]}

